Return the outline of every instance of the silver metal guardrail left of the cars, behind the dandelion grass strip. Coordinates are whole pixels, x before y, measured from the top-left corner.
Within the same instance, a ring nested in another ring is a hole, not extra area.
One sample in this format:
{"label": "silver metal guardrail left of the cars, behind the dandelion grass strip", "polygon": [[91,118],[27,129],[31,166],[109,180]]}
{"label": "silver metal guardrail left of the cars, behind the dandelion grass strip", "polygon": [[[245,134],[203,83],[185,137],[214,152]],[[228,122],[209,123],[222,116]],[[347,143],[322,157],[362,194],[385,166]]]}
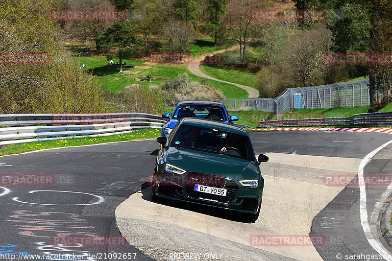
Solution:
{"label": "silver metal guardrail left of the cars, behind the dandelion grass strip", "polygon": [[0,146],[122,134],[140,128],[161,128],[165,123],[161,116],[141,113],[0,115]]}

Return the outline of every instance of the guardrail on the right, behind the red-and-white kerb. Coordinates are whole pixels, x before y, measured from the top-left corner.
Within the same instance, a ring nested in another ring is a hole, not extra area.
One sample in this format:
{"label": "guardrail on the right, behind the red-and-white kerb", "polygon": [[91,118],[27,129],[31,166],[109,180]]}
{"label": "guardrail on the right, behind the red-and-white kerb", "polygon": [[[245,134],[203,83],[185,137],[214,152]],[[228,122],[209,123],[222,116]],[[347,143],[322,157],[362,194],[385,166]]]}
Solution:
{"label": "guardrail on the right, behind the red-and-white kerb", "polygon": [[317,119],[280,119],[259,122],[259,127],[307,127],[307,126],[337,126],[358,125],[370,127],[392,126],[392,112],[361,113],[351,117],[317,118]]}

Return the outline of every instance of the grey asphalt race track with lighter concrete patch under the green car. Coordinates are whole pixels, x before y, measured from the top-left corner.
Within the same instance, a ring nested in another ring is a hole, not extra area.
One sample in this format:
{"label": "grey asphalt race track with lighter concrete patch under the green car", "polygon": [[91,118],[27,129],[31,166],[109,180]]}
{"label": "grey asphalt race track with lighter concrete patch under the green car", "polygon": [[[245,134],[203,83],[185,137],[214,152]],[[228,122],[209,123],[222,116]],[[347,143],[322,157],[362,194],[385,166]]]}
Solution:
{"label": "grey asphalt race track with lighter concrete patch under the green car", "polygon": [[[215,253],[218,258],[222,254],[221,260],[338,260],[338,253],[345,260],[345,255],[378,254],[361,225],[360,190],[325,186],[323,177],[356,174],[362,158],[389,142],[390,134],[271,131],[249,135],[255,152],[270,156],[270,162],[262,165],[266,189],[256,223],[213,208],[151,202],[146,181],[156,158],[154,140],[0,157],[0,174],[49,174],[56,180],[50,186],[0,185],[0,253],[82,254],[79,260],[94,260],[91,255],[97,253],[106,253],[106,259],[102,255],[95,260],[131,259],[114,259],[114,253],[136,253],[131,256],[135,260],[170,260],[174,253],[186,252]],[[364,175],[391,174],[391,155],[391,146],[381,150]],[[369,219],[385,190],[386,186],[366,188]],[[52,238],[60,235],[119,236],[116,222],[130,244],[51,245]],[[322,235],[325,244],[255,246],[249,241],[252,235],[309,233]],[[380,242],[389,250],[382,237]],[[355,259],[366,260],[355,256],[350,260]]]}

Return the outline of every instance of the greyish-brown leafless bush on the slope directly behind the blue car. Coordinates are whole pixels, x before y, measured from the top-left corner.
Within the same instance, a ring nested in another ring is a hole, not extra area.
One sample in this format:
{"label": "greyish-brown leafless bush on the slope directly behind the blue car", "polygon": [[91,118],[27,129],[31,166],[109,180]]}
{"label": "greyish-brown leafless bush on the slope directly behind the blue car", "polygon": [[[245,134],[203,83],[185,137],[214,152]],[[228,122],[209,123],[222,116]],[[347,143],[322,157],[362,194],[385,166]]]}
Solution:
{"label": "greyish-brown leafless bush on the slope directly behind the blue car", "polygon": [[178,75],[175,79],[169,79],[158,87],[165,98],[177,99],[222,99],[221,90],[216,90],[208,84],[192,81],[187,73]]}

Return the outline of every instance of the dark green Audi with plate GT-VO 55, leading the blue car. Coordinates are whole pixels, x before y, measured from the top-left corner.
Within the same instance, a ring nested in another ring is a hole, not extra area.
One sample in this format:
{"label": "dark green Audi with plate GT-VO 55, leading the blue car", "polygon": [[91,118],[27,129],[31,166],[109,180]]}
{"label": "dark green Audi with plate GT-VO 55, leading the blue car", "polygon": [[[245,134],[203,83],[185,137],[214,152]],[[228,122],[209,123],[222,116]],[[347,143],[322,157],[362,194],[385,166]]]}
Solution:
{"label": "dark green Audi with plate GT-VO 55, leading the blue car", "polygon": [[183,118],[160,143],[152,200],[160,197],[241,212],[259,217],[264,179],[243,128],[209,119]]}

